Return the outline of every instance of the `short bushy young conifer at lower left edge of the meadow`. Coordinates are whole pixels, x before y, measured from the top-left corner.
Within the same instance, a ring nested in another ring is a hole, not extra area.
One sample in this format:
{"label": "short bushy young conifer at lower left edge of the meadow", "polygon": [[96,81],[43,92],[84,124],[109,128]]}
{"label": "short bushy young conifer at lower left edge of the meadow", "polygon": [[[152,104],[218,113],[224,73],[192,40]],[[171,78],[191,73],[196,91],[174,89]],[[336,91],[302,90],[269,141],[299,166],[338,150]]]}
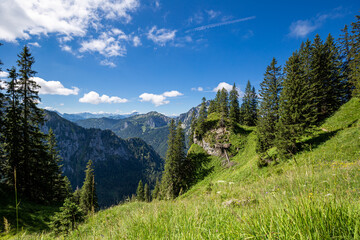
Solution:
{"label": "short bushy young conifer at lower left edge of the meadow", "polygon": [[58,235],[64,232],[67,234],[73,231],[77,224],[84,220],[84,214],[81,208],[70,198],[65,199],[64,205],[52,217],[50,228]]}

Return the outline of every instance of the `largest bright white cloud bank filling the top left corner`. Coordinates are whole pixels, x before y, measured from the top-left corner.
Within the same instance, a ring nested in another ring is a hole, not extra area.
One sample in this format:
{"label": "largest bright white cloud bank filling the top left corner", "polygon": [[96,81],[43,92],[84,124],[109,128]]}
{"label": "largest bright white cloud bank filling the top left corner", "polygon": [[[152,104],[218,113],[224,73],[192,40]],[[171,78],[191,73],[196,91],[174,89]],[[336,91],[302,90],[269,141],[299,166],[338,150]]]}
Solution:
{"label": "largest bright white cloud bank filling the top left corner", "polygon": [[15,42],[34,35],[84,37],[106,19],[129,22],[138,0],[2,0],[0,39]]}

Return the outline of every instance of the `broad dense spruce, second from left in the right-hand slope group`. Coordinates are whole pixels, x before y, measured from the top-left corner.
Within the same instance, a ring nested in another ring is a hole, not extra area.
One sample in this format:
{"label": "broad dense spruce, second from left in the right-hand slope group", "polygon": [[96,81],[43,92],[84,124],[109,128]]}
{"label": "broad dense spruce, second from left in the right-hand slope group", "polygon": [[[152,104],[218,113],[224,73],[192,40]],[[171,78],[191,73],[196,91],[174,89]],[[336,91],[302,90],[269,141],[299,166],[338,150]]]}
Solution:
{"label": "broad dense spruce, second from left in the right-hand slope group", "polygon": [[288,59],[284,67],[285,78],[280,95],[280,120],[277,126],[276,146],[282,158],[297,152],[296,142],[308,127],[313,105],[308,101],[310,88],[298,52]]}

